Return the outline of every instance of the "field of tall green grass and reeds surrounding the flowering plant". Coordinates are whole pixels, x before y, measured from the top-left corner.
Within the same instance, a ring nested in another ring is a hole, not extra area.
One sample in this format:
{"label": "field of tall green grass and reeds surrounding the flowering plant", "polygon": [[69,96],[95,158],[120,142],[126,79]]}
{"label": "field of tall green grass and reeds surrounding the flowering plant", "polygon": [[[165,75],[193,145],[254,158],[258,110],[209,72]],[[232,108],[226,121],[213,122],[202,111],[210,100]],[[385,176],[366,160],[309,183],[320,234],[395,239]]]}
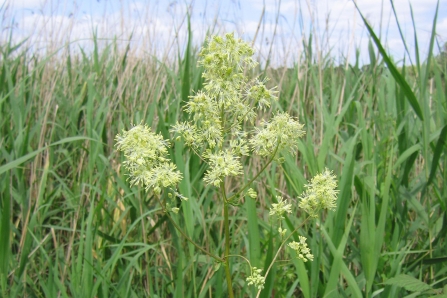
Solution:
{"label": "field of tall green grass and reeds surrounding the flowering plant", "polygon": [[[297,116],[306,136],[296,157],[258,179],[256,201],[230,209],[232,254],[267,267],[279,246],[267,217],[272,198],[296,202],[325,167],[340,191],[335,212],[300,230],[314,261],[276,263],[261,297],[447,295],[447,65],[433,56],[435,27],[428,56],[405,67],[370,33],[366,67],[314,59],[304,41],[293,67],[247,74],[278,85],[273,108]],[[114,148],[132,123],[171,137],[203,84],[198,49],[188,44],[168,62],[93,42],[80,55],[1,45],[0,296],[225,297],[224,270],[181,237],[153,196],[129,187]],[[222,251],[222,205],[202,183],[206,165],[182,142],[170,156],[190,198],[175,219]],[[302,219],[285,223],[293,230]],[[254,296],[249,267],[231,268],[236,296]]]}

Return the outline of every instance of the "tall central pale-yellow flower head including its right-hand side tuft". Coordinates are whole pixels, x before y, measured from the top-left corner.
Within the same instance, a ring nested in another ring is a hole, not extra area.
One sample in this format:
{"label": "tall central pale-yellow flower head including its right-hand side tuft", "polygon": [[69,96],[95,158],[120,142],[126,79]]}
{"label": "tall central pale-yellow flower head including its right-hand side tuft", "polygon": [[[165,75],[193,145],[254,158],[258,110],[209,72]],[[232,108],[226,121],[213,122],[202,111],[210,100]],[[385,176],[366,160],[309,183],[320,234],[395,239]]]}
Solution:
{"label": "tall central pale-yellow flower head including its right-hand side tuft", "polygon": [[225,177],[242,174],[239,159],[251,151],[275,158],[283,151],[294,154],[297,139],[304,135],[303,125],[287,113],[278,113],[263,128],[243,130],[244,123],[253,125],[258,111],[277,100],[277,91],[268,89],[265,80],[250,81],[244,74],[256,65],[253,53],[248,43],[233,34],[211,37],[199,54],[204,88],[185,105],[189,121],[171,129],[196,152],[205,152],[208,184],[218,186]]}

